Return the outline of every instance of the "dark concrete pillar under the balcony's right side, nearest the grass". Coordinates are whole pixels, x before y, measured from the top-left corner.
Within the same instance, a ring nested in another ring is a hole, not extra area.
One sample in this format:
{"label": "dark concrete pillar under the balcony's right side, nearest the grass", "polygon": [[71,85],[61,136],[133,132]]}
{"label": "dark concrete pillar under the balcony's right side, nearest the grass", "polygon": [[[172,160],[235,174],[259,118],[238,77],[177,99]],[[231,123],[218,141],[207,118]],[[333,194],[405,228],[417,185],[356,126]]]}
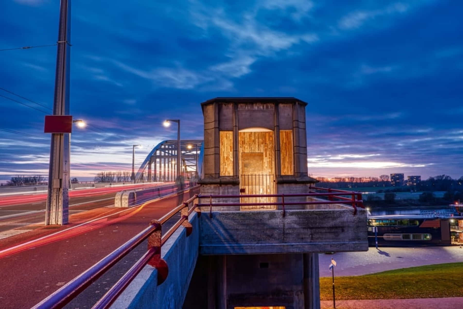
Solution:
{"label": "dark concrete pillar under the balcony's right side, nearest the grass", "polygon": [[320,309],[318,253],[302,253],[304,268],[304,309]]}

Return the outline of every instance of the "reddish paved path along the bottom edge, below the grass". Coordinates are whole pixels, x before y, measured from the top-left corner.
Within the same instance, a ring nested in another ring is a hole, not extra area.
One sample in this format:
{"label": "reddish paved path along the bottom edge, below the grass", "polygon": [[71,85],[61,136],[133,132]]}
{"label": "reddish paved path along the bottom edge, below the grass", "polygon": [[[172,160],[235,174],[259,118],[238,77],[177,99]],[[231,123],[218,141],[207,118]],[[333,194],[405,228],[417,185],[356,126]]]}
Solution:
{"label": "reddish paved path along the bottom edge, below the grass", "polygon": [[[321,308],[333,308],[333,301],[321,301]],[[459,309],[463,308],[463,297],[340,300],[336,309]]]}

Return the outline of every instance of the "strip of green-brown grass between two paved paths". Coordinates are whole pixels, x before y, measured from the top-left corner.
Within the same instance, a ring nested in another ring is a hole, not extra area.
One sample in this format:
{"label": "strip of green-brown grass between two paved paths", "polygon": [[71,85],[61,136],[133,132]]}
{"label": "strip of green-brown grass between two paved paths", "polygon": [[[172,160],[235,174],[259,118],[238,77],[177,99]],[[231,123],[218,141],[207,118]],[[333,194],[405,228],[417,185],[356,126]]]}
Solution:
{"label": "strip of green-brown grass between two paved paths", "polygon": [[[336,275],[336,269],[334,270]],[[463,263],[447,263],[334,277],[336,299],[395,299],[463,296]],[[332,278],[320,278],[321,300],[332,300]]]}

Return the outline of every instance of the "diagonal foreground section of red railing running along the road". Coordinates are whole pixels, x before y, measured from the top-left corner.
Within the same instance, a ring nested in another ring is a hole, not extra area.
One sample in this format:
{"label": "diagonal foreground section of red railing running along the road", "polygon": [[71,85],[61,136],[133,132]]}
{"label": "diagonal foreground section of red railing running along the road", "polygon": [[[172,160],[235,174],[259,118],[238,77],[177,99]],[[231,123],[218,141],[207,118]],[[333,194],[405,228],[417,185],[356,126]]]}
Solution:
{"label": "diagonal foreground section of red railing running along the road", "polygon": [[[194,189],[192,187],[190,189]],[[189,209],[189,204],[197,198],[194,195],[186,202],[175,207],[169,213],[165,214],[159,220],[152,220],[150,225],[143,231],[132,237],[125,242],[122,246],[115,251],[109,253],[106,257],[101,259],[98,263],[90,267],[88,270],[82,272],[79,276],[75,277],[67,284],[63,285],[59,290],[45,298],[43,301],[35,305],[34,309],[58,309],[63,308],[90,284],[101,277],[113,265],[124,258],[131,250],[141,244],[144,240],[148,239],[148,251],[125,273],[119,281],[106,292],[106,294],[92,307],[93,309],[109,308],[116,298],[125,290],[131,281],[138,275],[146,264],[154,266],[158,270],[158,284],[163,283],[167,278],[168,266],[163,259],[161,259],[161,247],[169,239],[170,236],[180,226],[184,226],[187,230],[187,236],[192,232],[192,226],[188,222],[188,215],[194,211],[194,208]],[[175,214],[181,213],[181,218],[171,227],[164,235],[162,235],[162,226]]]}

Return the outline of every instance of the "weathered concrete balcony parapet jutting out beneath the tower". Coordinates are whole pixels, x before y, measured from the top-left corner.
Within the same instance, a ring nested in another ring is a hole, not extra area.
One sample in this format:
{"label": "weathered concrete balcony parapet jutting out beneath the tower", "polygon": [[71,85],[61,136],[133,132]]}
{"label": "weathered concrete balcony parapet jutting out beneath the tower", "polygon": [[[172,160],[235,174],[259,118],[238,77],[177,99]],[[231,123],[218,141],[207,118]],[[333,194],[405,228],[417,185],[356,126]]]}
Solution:
{"label": "weathered concrete balcony parapet jutting out beneath the tower", "polygon": [[[343,208],[341,205],[338,208]],[[367,251],[366,211],[213,211],[200,217],[200,254]]]}

